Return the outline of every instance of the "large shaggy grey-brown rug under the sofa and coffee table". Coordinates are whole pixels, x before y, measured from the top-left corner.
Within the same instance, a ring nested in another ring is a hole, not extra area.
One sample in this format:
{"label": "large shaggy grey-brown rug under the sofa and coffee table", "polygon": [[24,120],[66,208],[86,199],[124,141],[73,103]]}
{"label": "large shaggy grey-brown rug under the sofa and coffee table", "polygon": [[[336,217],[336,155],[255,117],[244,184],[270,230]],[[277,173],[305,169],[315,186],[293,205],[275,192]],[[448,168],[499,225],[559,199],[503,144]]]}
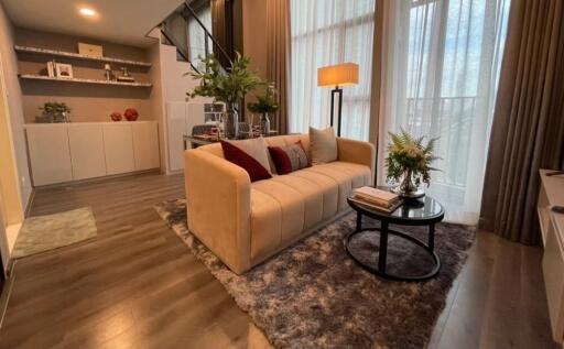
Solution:
{"label": "large shaggy grey-brown rug under the sofa and coffee table", "polygon": [[[345,251],[343,238],[356,222],[350,214],[237,275],[188,232],[184,199],[155,209],[275,348],[424,347],[475,237],[473,227],[440,223],[440,274],[421,283],[387,281],[366,272]],[[364,226],[369,225],[378,223],[367,218]],[[392,228],[426,241],[425,228]],[[375,242],[364,239],[358,243],[373,253]],[[409,247],[389,241],[392,251],[403,248],[403,255],[411,255]]]}

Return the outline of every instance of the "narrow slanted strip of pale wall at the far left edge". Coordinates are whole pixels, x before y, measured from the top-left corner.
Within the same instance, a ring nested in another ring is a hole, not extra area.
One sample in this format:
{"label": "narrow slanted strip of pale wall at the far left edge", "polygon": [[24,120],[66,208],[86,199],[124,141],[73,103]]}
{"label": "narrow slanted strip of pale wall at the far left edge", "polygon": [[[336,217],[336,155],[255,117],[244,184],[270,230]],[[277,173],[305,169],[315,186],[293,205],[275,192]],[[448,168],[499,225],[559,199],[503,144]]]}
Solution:
{"label": "narrow slanted strip of pale wall at the far left edge", "polygon": [[22,210],[25,211],[30,200],[32,187],[28,167],[28,152],[23,131],[23,107],[20,81],[18,79],[18,58],[13,51],[13,28],[8,19],[3,6],[0,3],[0,58],[6,81],[9,123],[12,130],[13,151],[18,166],[19,190]]}

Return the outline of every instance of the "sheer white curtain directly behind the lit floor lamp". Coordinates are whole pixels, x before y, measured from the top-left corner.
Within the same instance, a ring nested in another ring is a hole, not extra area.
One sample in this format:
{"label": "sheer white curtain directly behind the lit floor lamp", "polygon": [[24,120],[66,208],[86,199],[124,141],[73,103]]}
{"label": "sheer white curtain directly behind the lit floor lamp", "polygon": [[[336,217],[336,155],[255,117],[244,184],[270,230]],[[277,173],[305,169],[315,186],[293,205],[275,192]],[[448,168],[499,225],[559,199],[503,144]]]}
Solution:
{"label": "sheer white curtain directly behind the lit floor lamp", "polygon": [[330,88],[317,87],[317,68],[352,62],[360,81],[344,87],[341,134],[368,139],[373,12],[375,0],[291,0],[291,132],[329,126]]}

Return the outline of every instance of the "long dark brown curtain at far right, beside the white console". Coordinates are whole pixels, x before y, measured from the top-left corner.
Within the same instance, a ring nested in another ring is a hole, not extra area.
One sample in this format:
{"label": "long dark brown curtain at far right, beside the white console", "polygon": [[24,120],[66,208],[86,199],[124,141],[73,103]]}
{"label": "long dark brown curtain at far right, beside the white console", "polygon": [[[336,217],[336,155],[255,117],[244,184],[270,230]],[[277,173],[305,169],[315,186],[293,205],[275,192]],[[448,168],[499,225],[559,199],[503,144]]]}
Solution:
{"label": "long dark brown curtain at far right, beside the white console", "polygon": [[480,228],[540,241],[539,168],[563,168],[564,1],[513,0],[484,184]]}

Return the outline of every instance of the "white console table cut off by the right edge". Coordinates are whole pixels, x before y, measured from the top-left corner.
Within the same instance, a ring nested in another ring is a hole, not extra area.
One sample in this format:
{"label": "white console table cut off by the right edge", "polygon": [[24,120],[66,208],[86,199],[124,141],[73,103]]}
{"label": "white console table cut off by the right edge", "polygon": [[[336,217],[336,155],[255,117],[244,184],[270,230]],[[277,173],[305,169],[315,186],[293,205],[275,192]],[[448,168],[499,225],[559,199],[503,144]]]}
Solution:
{"label": "white console table cut off by the right edge", "polygon": [[541,170],[538,212],[544,254],[542,271],[551,318],[552,335],[564,348],[564,214],[551,210],[564,206],[564,175],[546,176]]}

